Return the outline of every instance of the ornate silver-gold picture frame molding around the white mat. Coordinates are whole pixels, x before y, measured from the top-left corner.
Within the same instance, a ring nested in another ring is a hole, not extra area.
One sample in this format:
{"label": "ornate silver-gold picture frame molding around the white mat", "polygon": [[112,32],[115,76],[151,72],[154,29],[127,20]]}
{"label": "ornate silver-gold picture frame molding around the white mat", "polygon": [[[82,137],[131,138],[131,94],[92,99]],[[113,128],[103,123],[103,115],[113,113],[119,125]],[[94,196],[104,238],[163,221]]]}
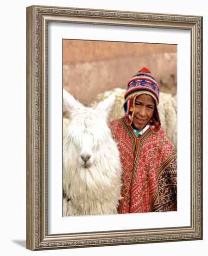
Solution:
{"label": "ornate silver-gold picture frame molding around the white mat", "polygon": [[[191,225],[48,235],[47,24],[72,22],[191,32]],[[31,250],[202,239],[202,17],[65,7],[27,7],[27,241]]]}

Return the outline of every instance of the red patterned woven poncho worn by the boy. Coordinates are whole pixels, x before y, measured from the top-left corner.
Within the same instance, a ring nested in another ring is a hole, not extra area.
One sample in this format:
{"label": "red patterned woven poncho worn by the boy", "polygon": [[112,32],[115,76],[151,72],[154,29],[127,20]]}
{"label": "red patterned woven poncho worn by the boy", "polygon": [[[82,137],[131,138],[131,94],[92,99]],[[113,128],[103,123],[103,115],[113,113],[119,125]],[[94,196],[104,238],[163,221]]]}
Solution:
{"label": "red patterned woven poncho worn by the boy", "polygon": [[164,130],[148,128],[137,138],[125,118],[111,121],[109,128],[123,169],[119,213],[176,210],[176,153]]}

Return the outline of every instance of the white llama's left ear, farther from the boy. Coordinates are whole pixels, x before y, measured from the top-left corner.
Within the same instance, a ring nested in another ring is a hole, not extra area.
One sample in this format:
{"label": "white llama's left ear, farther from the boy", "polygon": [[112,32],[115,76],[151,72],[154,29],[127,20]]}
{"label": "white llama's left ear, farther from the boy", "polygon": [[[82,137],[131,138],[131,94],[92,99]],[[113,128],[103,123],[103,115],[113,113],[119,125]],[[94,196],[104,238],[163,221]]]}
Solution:
{"label": "white llama's left ear, farther from the boy", "polygon": [[79,111],[82,108],[82,104],[76,101],[75,98],[63,89],[63,104],[66,107],[67,113],[70,115],[74,111]]}

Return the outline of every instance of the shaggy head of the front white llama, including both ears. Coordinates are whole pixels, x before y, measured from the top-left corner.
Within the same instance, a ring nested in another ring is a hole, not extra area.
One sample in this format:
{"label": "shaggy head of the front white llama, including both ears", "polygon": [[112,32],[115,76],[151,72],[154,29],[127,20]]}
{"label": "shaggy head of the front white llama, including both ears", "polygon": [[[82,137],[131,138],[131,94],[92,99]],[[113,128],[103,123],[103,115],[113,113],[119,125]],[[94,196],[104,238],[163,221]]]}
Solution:
{"label": "shaggy head of the front white llama, including both ears", "polygon": [[68,154],[64,157],[70,159],[71,165],[90,168],[95,163],[95,154],[98,154],[100,147],[105,147],[111,136],[107,120],[114,101],[115,94],[111,94],[96,108],[87,108],[63,90],[63,103],[70,117],[63,153]]}

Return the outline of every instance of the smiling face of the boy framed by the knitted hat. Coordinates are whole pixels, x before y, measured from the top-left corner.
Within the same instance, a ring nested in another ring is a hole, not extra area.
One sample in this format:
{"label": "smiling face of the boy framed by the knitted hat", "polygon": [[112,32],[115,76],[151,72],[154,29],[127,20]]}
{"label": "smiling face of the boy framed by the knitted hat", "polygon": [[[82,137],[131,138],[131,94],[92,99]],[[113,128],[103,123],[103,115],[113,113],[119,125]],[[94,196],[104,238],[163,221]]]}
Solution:
{"label": "smiling face of the boy framed by the knitted hat", "polygon": [[135,128],[142,130],[151,120],[155,110],[155,101],[148,94],[138,95],[134,102],[134,115],[132,124]]}

